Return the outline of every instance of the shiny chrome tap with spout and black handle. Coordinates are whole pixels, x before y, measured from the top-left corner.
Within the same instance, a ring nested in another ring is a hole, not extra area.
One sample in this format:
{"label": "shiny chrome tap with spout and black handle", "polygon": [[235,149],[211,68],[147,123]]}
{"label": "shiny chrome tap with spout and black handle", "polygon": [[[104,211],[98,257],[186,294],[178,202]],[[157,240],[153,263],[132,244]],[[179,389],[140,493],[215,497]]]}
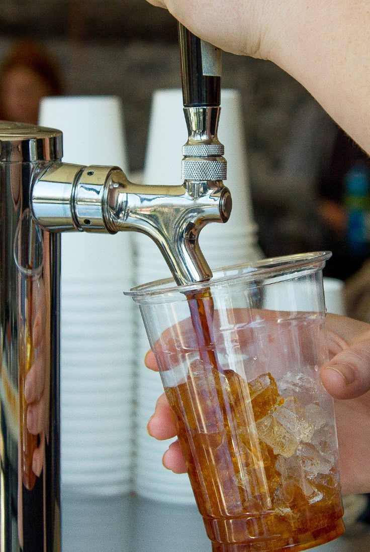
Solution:
{"label": "shiny chrome tap with spout and black handle", "polygon": [[184,114],[180,186],[138,185],[118,167],[52,163],[31,183],[31,213],[45,230],[138,231],[155,241],[177,284],[207,280],[212,272],[198,243],[209,222],[231,212],[224,147],[217,138],[220,51],[179,25]]}

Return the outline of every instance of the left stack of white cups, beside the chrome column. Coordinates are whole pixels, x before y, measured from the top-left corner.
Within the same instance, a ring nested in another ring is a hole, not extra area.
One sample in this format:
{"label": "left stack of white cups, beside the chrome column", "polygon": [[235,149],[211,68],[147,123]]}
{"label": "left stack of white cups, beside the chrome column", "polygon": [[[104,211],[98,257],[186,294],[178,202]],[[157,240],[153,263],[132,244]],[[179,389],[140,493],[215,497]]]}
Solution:
{"label": "left stack of white cups, beside the chrome column", "polygon": [[[64,162],[126,169],[118,98],[45,98],[40,124],[62,130]],[[74,491],[132,488],[135,309],[123,296],[134,281],[131,240],[62,235],[61,473]]]}

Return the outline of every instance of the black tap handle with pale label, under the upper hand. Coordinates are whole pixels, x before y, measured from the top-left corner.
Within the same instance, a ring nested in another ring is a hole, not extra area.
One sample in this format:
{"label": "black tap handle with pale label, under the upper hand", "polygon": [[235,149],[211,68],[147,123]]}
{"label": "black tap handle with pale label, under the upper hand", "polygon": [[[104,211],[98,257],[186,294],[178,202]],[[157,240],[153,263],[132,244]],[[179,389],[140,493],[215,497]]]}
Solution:
{"label": "black tap handle with pale label, under the upper hand", "polygon": [[178,24],[184,107],[220,105],[221,50]]}

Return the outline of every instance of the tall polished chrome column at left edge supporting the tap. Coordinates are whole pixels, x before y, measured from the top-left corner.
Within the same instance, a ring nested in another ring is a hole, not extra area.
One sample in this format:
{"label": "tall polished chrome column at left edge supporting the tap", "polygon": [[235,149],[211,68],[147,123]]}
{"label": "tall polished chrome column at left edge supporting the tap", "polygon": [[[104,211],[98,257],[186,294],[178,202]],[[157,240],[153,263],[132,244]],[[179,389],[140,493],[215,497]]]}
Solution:
{"label": "tall polished chrome column at left edge supporting the tap", "polygon": [[0,152],[0,550],[60,552],[60,237],[35,225],[29,186],[61,133],[1,123]]}

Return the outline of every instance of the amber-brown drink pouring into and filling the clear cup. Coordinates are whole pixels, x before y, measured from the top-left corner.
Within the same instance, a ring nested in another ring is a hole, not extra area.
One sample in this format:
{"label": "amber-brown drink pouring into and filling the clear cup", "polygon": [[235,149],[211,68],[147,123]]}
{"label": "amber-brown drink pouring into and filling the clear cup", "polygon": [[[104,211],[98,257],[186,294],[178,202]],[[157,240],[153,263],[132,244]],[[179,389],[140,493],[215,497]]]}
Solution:
{"label": "amber-brown drink pouring into and filling the clear cup", "polygon": [[199,360],[186,381],[165,391],[213,550],[298,552],[339,537],[343,509],[335,470],[309,483],[277,470],[277,454],[255,429],[255,422],[284,402],[274,379],[263,374],[247,383],[221,368],[210,290],[187,299]]}

